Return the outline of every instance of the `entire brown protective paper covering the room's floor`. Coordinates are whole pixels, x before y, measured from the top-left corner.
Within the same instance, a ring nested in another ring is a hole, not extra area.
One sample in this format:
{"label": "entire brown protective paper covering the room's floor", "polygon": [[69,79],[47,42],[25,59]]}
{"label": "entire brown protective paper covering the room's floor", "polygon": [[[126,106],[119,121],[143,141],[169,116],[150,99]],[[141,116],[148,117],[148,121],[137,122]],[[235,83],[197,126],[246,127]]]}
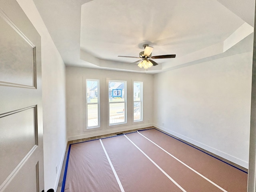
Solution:
{"label": "entire brown protective paper covering the room's floor", "polygon": [[[224,190],[228,192],[247,191],[247,174],[245,172],[156,129],[144,130],[139,133]],[[178,162],[139,133],[101,140],[125,192],[182,191],[140,150],[187,192],[222,192],[220,188]],[[100,140],[71,145],[63,191],[121,191]]]}

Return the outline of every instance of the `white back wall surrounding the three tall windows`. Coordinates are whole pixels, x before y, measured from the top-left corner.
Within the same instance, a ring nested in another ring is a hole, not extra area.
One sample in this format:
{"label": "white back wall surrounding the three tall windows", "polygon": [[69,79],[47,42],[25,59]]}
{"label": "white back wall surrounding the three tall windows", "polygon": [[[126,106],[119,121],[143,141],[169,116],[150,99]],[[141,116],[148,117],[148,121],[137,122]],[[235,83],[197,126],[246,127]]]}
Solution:
{"label": "white back wall surrounding the three tall windows", "polygon": [[[84,131],[84,99],[83,78],[100,80],[100,119],[99,130]],[[113,128],[108,125],[108,86],[106,78],[127,81],[127,124]],[[143,122],[132,124],[132,81],[143,82]],[[68,140],[99,136],[136,128],[152,126],[153,118],[153,75],[132,72],[116,72],[111,70],[98,70],[90,68],[66,67],[66,97],[67,97],[67,129]],[[78,132],[78,130],[80,132]]]}

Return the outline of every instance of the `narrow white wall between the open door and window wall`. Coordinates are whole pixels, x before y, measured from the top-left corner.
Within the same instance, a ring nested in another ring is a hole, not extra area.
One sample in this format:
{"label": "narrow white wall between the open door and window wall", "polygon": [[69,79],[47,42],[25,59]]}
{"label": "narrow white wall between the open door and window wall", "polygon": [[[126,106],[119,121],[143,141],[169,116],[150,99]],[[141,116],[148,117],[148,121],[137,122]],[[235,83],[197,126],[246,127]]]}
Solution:
{"label": "narrow white wall between the open door and window wall", "polygon": [[[17,0],[41,36],[44,189],[57,189],[66,150],[65,65],[32,0]],[[56,165],[58,172],[56,174]]]}

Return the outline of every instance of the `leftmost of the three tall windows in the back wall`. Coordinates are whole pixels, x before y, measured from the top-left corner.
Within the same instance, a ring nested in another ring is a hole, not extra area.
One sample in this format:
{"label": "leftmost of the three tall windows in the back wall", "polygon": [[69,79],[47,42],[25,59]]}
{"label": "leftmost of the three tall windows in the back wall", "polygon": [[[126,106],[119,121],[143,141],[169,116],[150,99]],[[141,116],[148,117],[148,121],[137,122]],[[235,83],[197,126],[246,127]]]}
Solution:
{"label": "leftmost of the three tall windows in the back wall", "polygon": [[99,80],[86,79],[86,128],[100,127]]}

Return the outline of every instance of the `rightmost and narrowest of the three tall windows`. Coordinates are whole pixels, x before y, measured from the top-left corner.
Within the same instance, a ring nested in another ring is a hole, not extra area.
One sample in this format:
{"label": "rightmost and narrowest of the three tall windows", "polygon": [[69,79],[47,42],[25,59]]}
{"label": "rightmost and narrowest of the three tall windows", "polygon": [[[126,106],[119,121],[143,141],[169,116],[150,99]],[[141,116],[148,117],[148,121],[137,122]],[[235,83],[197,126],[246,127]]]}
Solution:
{"label": "rightmost and narrowest of the three tall windows", "polygon": [[143,120],[142,115],[142,82],[133,82],[133,122]]}

